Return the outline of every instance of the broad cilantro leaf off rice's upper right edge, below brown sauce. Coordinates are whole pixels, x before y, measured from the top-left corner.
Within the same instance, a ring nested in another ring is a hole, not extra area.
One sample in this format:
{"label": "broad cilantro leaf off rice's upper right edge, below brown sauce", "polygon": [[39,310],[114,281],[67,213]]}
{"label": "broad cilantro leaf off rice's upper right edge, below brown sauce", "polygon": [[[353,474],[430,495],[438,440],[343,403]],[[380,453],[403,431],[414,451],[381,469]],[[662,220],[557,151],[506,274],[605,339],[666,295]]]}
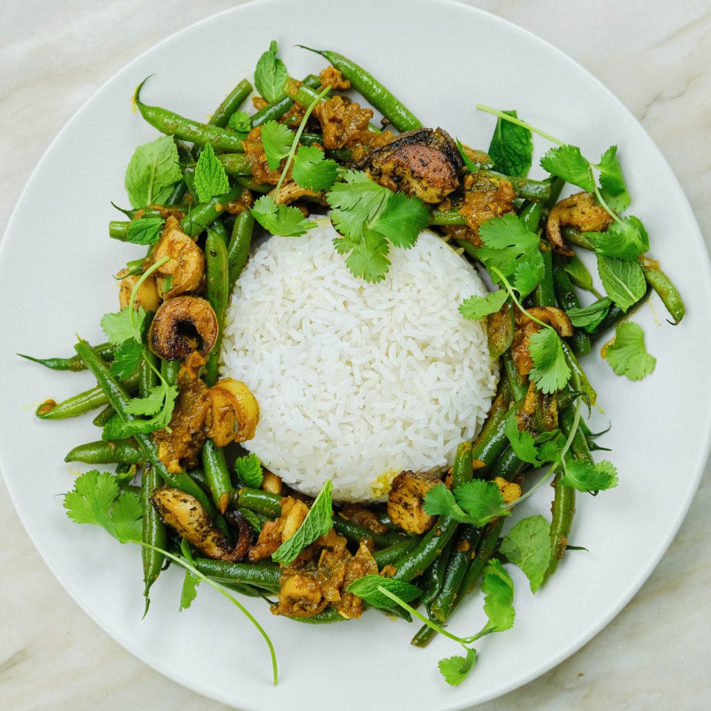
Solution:
{"label": "broad cilantro leaf off rice's upper right edge, below brown sauce", "polygon": [[[474,254],[486,267],[496,267],[505,277],[511,277],[523,262],[530,269],[543,269],[539,237],[515,213],[488,220],[479,228],[479,235],[483,247],[477,247]],[[492,279],[496,281],[496,277]]]}

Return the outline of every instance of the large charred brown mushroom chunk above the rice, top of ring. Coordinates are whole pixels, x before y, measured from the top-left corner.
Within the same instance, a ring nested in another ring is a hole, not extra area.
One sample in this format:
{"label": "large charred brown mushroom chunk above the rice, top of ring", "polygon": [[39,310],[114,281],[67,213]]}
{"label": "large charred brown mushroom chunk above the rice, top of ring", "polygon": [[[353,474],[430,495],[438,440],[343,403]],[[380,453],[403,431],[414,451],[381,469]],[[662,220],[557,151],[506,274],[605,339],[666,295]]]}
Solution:
{"label": "large charred brown mushroom chunk above the rice, top of ring", "polygon": [[359,167],[392,191],[439,203],[459,187],[463,162],[451,136],[442,129],[416,129],[370,151]]}

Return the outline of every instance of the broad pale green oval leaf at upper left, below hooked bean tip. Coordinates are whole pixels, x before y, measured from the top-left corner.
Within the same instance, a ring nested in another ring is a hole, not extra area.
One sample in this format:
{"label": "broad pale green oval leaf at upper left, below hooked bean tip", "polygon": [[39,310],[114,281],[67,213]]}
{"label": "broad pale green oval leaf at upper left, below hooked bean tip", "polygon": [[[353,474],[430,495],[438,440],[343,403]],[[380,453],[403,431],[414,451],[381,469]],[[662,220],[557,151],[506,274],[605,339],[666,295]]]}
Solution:
{"label": "broad pale green oval leaf at upper left, below hooked bean tip", "polygon": [[164,203],[182,178],[175,141],[172,136],[161,136],[134,151],[124,185],[132,207],[144,208]]}

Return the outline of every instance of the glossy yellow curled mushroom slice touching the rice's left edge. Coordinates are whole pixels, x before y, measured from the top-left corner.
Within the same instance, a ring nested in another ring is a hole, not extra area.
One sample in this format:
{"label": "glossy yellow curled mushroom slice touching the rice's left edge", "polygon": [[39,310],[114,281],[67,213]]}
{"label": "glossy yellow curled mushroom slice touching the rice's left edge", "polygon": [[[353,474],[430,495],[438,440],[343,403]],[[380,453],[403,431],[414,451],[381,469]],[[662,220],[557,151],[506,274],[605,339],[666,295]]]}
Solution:
{"label": "glossy yellow curled mushroom slice touching the rice's left edge", "polygon": [[212,402],[211,437],[218,447],[252,439],[260,422],[260,406],[241,380],[224,378],[208,391]]}

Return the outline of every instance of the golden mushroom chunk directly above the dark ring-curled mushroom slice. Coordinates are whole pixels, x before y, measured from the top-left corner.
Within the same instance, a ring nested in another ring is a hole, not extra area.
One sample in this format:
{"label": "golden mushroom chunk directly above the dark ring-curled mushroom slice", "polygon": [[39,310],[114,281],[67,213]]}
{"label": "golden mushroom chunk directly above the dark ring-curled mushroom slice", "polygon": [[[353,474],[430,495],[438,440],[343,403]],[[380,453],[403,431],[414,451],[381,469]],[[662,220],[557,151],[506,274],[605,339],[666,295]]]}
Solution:
{"label": "golden mushroom chunk directly above the dark ring-curled mushroom slice", "polygon": [[152,256],[155,262],[170,257],[157,269],[163,275],[158,277],[158,286],[164,299],[201,289],[205,279],[205,254],[181,230],[178,220],[172,215],[166,220],[161,241]]}

